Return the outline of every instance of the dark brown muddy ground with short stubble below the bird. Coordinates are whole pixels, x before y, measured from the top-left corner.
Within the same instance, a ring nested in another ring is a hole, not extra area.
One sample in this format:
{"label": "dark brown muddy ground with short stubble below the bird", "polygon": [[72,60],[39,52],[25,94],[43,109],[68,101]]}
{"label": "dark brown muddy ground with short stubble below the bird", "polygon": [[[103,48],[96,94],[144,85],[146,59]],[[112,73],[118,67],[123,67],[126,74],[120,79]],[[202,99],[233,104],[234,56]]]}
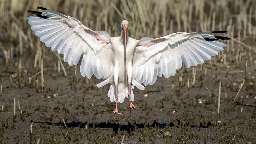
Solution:
{"label": "dark brown muddy ground with short stubble below the bird", "polygon": [[[255,47],[253,39],[244,41]],[[252,61],[248,48],[227,48],[227,63],[215,56],[196,67],[194,86],[193,68],[182,67],[168,79],[159,77],[146,90],[133,90],[137,109],[129,112],[129,101],[119,103],[122,116],[114,115],[115,103],[107,97],[108,86],[97,88],[101,80],[88,79],[75,67],[64,66],[57,72],[57,58],[45,48],[44,90],[40,71],[33,67],[34,57],[16,57],[5,67],[0,62],[0,143],[165,143],[163,135],[170,132],[168,143],[255,143],[256,142],[256,55]],[[236,63],[237,49],[241,62]],[[18,61],[22,69],[19,76]],[[248,63],[245,72],[245,62]],[[202,70],[201,70],[202,69]],[[206,75],[205,75],[206,71]],[[179,82],[179,77],[182,81]],[[36,79],[39,77],[38,87]],[[187,80],[190,87],[188,88]],[[241,84],[244,85],[236,101]],[[220,117],[217,118],[219,84],[221,82]],[[172,89],[173,85],[173,89]],[[145,97],[145,94],[148,96]],[[16,98],[16,117],[13,98]],[[19,104],[20,109],[19,109]],[[22,114],[20,114],[22,111]],[[67,129],[62,121],[64,119]],[[30,126],[33,124],[32,135]]]}

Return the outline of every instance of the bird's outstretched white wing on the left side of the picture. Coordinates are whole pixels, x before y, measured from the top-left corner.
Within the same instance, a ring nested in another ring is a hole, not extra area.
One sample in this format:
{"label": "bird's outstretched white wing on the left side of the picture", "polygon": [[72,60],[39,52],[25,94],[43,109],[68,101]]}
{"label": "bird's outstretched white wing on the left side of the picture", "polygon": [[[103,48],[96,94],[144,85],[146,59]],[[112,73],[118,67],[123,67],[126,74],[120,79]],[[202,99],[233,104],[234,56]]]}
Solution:
{"label": "bird's outstretched white wing on the left side of the picture", "polygon": [[37,8],[47,12],[28,11],[36,16],[27,19],[36,36],[41,37],[40,41],[51,47],[52,51],[64,54],[63,59],[70,66],[76,65],[83,55],[80,66],[82,76],[91,78],[94,74],[98,79],[110,76],[113,51],[111,38],[106,31],[93,31],[73,17],[43,7]]}

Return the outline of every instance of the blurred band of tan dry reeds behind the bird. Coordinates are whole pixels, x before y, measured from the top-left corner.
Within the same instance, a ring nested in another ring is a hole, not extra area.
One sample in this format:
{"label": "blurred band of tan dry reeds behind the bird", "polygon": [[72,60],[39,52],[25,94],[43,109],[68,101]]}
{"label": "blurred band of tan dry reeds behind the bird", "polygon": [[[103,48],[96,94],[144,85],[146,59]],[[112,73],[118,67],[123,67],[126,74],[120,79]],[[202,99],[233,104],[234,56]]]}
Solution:
{"label": "blurred band of tan dry reeds behind the bird", "polygon": [[[105,30],[110,36],[120,36],[124,19],[130,22],[129,36],[135,39],[214,30],[227,30],[239,42],[246,38],[255,41],[256,36],[255,0],[1,0],[0,65],[7,67],[14,57],[35,63],[36,54],[40,60],[50,52],[27,23],[31,14],[26,11],[37,11],[37,6],[75,17],[88,28]],[[233,41],[229,41],[231,47]]]}

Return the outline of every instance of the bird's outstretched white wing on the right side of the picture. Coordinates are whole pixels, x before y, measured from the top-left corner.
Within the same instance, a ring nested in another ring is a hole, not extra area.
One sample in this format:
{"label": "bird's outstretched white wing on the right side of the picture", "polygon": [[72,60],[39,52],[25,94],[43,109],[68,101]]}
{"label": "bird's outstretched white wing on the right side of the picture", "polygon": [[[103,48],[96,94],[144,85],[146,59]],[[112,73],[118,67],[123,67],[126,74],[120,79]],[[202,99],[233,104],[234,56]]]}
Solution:
{"label": "bird's outstretched white wing on the right side of the picture", "polygon": [[140,84],[152,85],[157,76],[174,76],[182,63],[187,68],[204,63],[228,46],[218,41],[228,37],[213,35],[225,32],[178,32],[156,39],[143,37],[133,56],[132,77]]}

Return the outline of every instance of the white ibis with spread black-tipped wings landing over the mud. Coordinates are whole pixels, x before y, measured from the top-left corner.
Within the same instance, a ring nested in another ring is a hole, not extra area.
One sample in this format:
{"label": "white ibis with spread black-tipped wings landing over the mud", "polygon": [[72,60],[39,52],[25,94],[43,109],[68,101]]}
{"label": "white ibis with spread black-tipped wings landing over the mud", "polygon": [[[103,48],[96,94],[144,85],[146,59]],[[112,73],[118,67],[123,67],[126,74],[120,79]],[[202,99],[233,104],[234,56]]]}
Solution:
{"label": "white ibis with spread black-tipped wings landing over the mud", "polygon": [[217,55],[227,44],[218,40],[228,40],[228,37],[214,36],[212,32],[177,32],[156,39],[142,37],[140,40],[128,37],[129,22],[121,23],[121,36],[110,37],[106,31],[93,31],[79,20],[65,16],[43,7],[38,9],[47,12],[28,11],[36,16],[27,17],[31,29],[36,36],[52,51],[64,54],[63,60],[70,66],[78,64],[82,76],[105,79],[97,84],[102,87],[110,84],[108,97],[116,102],[114,114],[118,112],[117,103],[125,98],[132,104],[134,95],[133,86],[144,90],[142,83],[152,85],[157,76],[168,78],[174,76],[176,69],[182,63],[189,68],[210,60]]}

